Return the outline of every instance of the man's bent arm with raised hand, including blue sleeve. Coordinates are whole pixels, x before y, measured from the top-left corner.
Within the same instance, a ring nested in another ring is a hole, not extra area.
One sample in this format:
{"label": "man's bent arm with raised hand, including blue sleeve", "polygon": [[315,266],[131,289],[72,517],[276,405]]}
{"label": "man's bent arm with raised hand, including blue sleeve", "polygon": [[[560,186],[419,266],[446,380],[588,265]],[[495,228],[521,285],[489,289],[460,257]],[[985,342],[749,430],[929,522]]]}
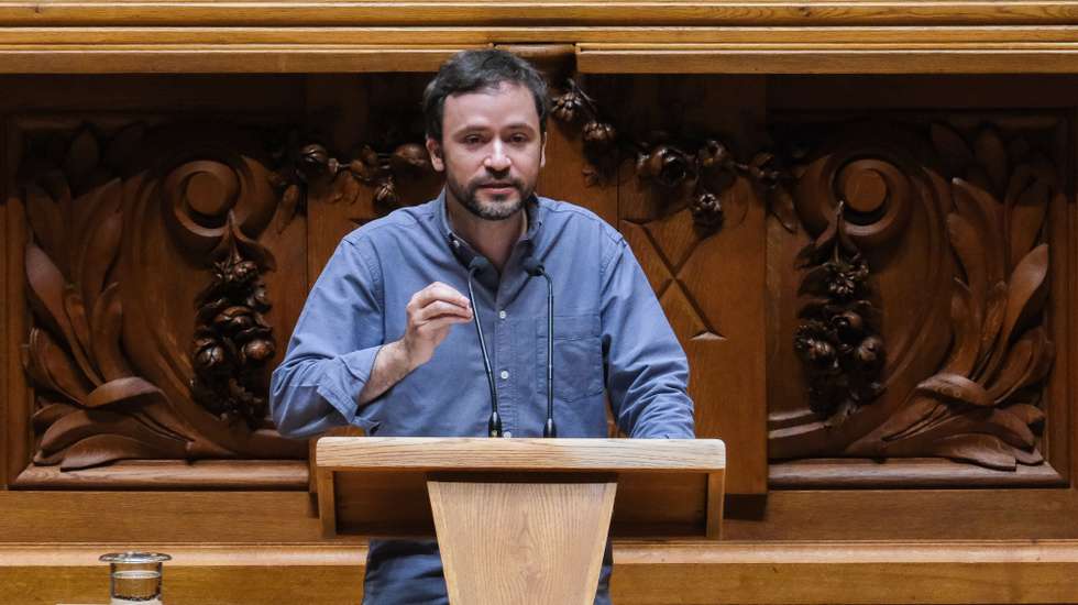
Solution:
{"label": "man's bent arm with raised hand, including blue sleeve", "polygon": [[342,241],[307,297],[271,381],[282,435],[309,437],[348,424],[370,431],[376,422],[363,408],[426,363],[453,323],[472,317],[460,293],[431,284],[404,310],[405,334],[385,343],[384,284],[369,246]]}

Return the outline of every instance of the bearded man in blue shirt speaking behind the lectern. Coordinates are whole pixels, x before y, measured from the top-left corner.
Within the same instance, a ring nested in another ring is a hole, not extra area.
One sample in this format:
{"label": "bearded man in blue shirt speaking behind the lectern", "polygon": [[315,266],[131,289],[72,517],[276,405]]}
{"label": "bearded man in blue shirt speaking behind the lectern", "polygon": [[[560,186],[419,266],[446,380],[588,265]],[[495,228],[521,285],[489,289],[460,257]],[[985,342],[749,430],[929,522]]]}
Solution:
{"label": "bearded man in blue shirt speaking behind the lectern", "polygon": [[[487,435],[483,354],[476,331],[459,326],[477,314],[503,437],[541,436],[547,286],[526,271],[538,262],[554,288],[558,436],[606,436],[606,393],[630,437],[693,437],[684,353],[625,240],[592,212],[535,195],[548,113],[539,74],[502,51],[464,52],[427,87],[424,109],[446,188],[341,241],[273,374],[278,430]],[[474,307],[462,294],[470,266]],[[608,569],[597,603],[609,602]],[[373,541],[364,590],[376,605],[447,603],[437,544]]]}

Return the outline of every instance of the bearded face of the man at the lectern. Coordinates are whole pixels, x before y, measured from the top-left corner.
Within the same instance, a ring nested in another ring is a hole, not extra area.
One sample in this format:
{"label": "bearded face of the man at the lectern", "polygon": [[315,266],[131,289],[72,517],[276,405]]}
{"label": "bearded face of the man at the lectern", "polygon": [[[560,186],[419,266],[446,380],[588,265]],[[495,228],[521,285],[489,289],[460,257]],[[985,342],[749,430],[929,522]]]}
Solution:
{"label": "bearded face of the man at the lectern", "polygon": [[442,141],[427,140],[431,164],[446,173],[447,197],[486,220],[505,220],[524,207],[546,163],[531,92],[518,84],[451,95]]}

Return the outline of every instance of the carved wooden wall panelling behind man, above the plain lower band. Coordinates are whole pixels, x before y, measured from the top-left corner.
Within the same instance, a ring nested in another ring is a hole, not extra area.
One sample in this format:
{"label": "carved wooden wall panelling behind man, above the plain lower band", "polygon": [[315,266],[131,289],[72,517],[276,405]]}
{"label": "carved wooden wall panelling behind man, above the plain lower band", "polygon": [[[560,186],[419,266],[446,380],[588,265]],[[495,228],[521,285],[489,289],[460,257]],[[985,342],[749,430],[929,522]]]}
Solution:
{"label": "carved wooden wall panelling behind man, above the plain lower band", "polygon": [[[541,190],[625,233],[734,493],[1066,483],[1067,113],[770,111],[761,77],[571,67]],[[340,237],[437,191],[400,109],[425,80],[311,78],[298,118],[9,118],[13,483],[302,459],[268,370]]]}

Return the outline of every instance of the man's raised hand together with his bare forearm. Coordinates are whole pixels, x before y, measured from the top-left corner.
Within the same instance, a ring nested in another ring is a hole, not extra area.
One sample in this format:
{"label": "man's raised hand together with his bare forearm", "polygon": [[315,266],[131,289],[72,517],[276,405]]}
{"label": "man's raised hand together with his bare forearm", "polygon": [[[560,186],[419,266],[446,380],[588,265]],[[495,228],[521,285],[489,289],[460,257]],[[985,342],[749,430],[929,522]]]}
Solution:
{"label": "man's raised hand together with his bare forearm", "polygon": [[408,314],[405,333],[400,340],[383,345],[374,358],[371,377],[360,392],[360,405],[374,400],[430,361],[454,323],[472,320],[468,297],[441,282],[414,294],[405,310]]}

